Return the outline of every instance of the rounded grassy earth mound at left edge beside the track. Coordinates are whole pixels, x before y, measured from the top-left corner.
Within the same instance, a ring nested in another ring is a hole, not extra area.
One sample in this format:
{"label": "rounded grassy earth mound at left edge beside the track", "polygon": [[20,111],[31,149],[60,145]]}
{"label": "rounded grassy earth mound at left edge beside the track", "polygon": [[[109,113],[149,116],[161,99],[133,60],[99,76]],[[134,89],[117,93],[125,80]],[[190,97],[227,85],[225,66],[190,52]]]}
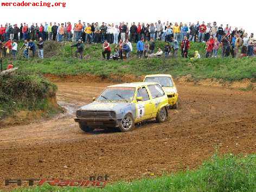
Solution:
{"label": "rounded grassy earth mound at left edge beside the track", "polygon": [[0,75],[0,124],[15,112],[41,110],[50,115],[59,110],[55,104],[57,87],[37,74],[16,71]]}

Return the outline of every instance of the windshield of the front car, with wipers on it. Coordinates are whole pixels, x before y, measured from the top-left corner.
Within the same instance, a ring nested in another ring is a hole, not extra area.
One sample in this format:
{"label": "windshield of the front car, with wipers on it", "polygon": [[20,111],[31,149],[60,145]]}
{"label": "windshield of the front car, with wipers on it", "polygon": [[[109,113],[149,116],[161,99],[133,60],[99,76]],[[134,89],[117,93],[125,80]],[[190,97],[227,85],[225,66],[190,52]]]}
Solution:
{"label": "windshield of the front car, with wipers on it", "polygon": [[108,87],[97,98],[97,101],[131,102],[135,88],[132,87]]}

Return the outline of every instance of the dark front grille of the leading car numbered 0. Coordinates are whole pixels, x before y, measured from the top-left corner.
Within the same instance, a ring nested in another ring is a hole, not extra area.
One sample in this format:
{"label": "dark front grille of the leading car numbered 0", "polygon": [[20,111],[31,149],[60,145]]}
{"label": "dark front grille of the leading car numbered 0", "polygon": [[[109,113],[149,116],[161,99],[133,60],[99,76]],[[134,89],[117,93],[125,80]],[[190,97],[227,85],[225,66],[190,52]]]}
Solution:
{"label": "dark front grille of the leading car numbered 0", "polygon": [[116,113],[113,111],[77,111],[76,116],[85,118],[115,118]]}

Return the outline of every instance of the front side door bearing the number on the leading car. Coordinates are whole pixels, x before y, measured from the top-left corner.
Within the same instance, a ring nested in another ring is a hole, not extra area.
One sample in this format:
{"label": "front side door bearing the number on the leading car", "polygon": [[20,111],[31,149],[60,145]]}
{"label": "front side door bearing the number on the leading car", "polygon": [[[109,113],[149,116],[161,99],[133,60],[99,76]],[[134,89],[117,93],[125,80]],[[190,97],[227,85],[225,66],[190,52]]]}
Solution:
{"label": "front side door bearing the number on the leading car", "polygon": [[136,119],[144,120],[151,118],[153,113],[153,103],[146,87],[139,87],[137,89],[136,97],[143,97],[142,101],[137,101],[136,103]]}

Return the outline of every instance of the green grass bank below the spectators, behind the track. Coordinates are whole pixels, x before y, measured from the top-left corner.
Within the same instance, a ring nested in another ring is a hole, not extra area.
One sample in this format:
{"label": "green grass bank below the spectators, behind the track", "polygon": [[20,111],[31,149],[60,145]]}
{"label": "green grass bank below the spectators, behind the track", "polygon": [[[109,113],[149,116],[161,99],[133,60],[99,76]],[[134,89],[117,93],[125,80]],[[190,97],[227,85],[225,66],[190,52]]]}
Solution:
{"label": "green grass bank below the spectators, behind the track", "polygon": [[[256,78],[256,58],[244,57],[242,59],[227,58],[202,58],[191,61],[190,59],[137,59],[136,44],[133,44],[133,52],[131,59],[124,61],[105,61],[102,60],[101,44],[86,44],[85,59],[78,60],[71,58],[71,43],[49,43],[46,42],[44,48],[45,59],[29,59],[22,58],[19,53],[18,60],[14,61],[14,65],[25,71],[33,71],[43,74],[55,75],[76,75],[76,74],[95,74],[100,76],[113,75],[144,75],[153,73],[169,73],[177,76],[190,74],[194,79],[216,78],[229,81],[241,79]],[[114,45],[111,45],[112,50]],[[156,42],[156,49],[164,47],[164,42]],[[195,50],[199,50],[203,56],[205,53],[205,45],[203,43],[191,43],[189,57],[193,55]],[[74,54],[75,48],[73,48]],[[180,52],[180,50],[179,50]],[[220,50],[219,50],[220,52]],[[220,55],[220,53],[219,53]],[[8,59],[5,59],[5,67]]]}

